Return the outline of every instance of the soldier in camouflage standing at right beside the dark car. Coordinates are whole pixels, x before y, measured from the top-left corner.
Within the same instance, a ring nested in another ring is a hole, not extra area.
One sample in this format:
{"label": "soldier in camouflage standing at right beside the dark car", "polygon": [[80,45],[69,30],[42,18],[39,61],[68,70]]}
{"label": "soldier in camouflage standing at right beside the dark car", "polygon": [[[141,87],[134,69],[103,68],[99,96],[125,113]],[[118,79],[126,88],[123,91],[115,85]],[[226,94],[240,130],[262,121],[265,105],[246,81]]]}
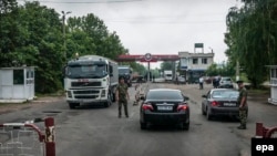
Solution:
{"label": "soldier in camouflage standing at right beside the dark car", "polygon": [[244,87],[243,81],[237,81],[239,96],[238,96],[238,104],[239,104],[239,121],[240,125],[237,127],[238,129],[246,129],[246,119],[247,119],[247,91]]}

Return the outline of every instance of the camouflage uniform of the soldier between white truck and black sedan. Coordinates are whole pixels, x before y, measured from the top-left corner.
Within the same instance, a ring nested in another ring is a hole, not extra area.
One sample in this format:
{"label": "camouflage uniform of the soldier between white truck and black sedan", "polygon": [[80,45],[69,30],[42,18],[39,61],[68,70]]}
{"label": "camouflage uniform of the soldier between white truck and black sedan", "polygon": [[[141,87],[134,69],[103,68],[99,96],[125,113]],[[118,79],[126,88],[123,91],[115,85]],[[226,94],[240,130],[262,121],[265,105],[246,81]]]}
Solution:
{"label": "camouflage uniform of the soldier between white truck and black sedan", "polygon": [[119,117],[121,117],[121,107],[124,106],[125,116],[129,117],[127,113],[127,85],[126,84],[119,84],[116,87],[119,92]]}

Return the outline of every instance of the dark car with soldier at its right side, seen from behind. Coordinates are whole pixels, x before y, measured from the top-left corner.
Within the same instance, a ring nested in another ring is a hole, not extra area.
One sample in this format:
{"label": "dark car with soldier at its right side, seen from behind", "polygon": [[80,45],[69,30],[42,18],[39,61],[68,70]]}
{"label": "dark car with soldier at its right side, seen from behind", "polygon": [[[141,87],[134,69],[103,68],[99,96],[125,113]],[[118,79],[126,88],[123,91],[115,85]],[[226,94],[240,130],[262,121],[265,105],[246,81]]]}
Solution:
{"label": "dark car with soldier at its right side, seen from behind", "polygon": [[[213,116],[228,115],[238,117],[239,92],[233,89],[212,89],[203,95],[202,114],[209,121]],[[248,112],[248,108],[247,108]]]}

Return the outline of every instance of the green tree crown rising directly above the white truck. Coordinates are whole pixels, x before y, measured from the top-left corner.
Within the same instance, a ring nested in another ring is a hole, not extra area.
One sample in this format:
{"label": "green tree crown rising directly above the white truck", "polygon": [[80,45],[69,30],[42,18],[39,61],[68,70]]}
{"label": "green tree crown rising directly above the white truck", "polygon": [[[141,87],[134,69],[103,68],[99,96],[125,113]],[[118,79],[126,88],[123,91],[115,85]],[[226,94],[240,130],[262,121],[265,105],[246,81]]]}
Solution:
{"label": "green tree crown rising directly above the white truck", "polygon": [[68,19],[69,56],[96,54],[115,60],[129,51],[122,45],[115,32],[110,33],[102,20],[92,13],[81,18]]}

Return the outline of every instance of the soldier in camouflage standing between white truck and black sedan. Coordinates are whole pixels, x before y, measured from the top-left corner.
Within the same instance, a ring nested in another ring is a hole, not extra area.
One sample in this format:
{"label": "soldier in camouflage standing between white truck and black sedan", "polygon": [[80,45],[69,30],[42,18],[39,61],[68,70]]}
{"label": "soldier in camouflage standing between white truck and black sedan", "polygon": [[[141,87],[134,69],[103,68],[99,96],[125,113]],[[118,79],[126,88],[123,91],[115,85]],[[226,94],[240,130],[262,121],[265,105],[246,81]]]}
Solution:
{"label": "soldier in camouflage standing between white truck and black sedan", "polygon": [[130,100],[130,96],[127,93],[127,85],[124,82],[124,77],[120,77],[120,84],[116,87],[115,98],[116,98],[116,102],[119,103],[119,117],[121,117],[122,105],[124,107],[125,116],[129,117],[127,100]]}

